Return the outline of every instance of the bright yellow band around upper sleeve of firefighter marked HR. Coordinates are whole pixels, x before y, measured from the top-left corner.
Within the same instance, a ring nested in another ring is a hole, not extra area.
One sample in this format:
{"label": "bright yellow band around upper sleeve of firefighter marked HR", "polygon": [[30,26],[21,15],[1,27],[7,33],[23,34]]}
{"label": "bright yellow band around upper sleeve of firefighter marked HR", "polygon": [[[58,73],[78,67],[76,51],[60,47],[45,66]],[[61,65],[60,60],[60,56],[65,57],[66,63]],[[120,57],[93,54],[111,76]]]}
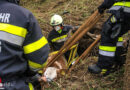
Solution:
{"label": "bright yellow band around upper sleeve of firefighter marked HR", "polygon": [[31,44],[28,44],[26,46],[23,47],[24,49],[24,53],[25,54],[29,54],[32,53],[34,51],[39,50],[40,48],[42,48],[43,46],[45,46],[48,43],[48,41],[46,40],[46,38],[43,36],[41,39],[39,39],[36,42],[33,42]]}

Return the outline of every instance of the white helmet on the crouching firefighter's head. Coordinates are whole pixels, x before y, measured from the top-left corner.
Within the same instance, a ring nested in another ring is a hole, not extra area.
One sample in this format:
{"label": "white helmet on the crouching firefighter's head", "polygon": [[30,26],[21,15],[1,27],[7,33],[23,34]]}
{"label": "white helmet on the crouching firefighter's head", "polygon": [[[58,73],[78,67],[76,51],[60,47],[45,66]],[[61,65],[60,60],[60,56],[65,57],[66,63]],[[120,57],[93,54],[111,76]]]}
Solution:
{"label": "white helmet on the crouching firefighter's head", "polygon": [[63,23],[63,19],[60,15],[55,14],[51,17],[50,25],[56,26],[56,25],[60,25],[62,23]]}

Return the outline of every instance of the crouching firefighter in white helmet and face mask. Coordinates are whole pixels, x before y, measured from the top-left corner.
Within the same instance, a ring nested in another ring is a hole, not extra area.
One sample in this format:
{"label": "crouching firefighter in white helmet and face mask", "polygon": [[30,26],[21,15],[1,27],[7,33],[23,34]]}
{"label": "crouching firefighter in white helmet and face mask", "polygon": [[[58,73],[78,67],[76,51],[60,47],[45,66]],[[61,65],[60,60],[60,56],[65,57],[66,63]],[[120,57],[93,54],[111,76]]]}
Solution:
{"label": "crouching firefighter in white helmet and face mask", "polygon": [[[51,17],[50,25],[53,30],[48,35],[48,42],[53,51],[58,51],[64,45],[64,42],[72,35],[72,33],[78,28],[70,25],[63,25],[63,18],[55,14]],[[65,54],[66,60],[70,57],[70,50]]]}

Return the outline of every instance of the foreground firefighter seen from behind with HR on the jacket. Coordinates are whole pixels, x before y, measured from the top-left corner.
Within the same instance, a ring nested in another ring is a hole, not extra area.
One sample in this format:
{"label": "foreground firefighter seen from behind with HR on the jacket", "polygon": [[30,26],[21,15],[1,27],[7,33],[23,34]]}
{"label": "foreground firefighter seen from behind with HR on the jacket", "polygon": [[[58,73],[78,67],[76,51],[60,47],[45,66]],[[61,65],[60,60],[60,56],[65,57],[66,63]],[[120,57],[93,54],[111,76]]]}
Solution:
{"label": "foreground firefighter seen from behind with HR on the jacket", "polygon": [[33,90],[27,75],[39,77],[49,44],[33,14],[20,0],[0,0],[0,79],[2,90]]}

